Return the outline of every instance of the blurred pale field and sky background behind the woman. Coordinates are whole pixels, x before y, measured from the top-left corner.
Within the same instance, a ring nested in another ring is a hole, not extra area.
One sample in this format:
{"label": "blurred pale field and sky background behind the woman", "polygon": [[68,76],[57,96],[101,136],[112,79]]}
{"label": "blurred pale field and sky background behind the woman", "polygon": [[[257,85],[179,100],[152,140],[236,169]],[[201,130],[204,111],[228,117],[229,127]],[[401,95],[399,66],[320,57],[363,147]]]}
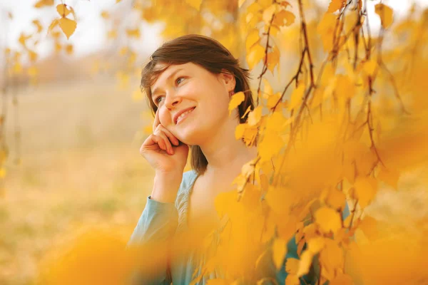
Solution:
{"label": "blurred pale field and sky background behind the woman", "polygon": [[[39,2],[0,2],[0,284],[32,284],[46,252],[87,227],[105,224],[123,229],[125,239],[131,235],[153,185],[153,171],[138,152],[152,120],[138,74],[165,39],[204,33],[246,64],[242,38],[228,26],[238,22],[237,9],[229,7],[237,1],[213,1],[228,13],[205,14],[198,30],[183,24],[192,19],[186,13],[194,14],[183,1],[157,1],[152,11],[141,9],[150,1],[55,1],[75,13],[69,39],[58,26],[48,33],[58,13],[48,4],[36,8]],[[159,10],[165,2],[170,10]],[[384,3],[395,19],[412,7]],[[171,13],[181,16],[171,23]],[[374,33],[379,25],[373,19]],[[288,66],[285,58],[281,70]]]}

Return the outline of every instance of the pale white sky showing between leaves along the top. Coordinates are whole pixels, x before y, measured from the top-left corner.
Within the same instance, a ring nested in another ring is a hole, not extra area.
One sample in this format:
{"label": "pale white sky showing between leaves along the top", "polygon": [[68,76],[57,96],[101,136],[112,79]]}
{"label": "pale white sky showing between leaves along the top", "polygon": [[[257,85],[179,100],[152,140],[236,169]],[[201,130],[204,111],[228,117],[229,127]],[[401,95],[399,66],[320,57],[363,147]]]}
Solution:
{"label": "pale white sky showing between leaves along the top", "polygon": [[[39,19],[44,27],[49,26],[51,21],[57,17],[56,9],[46,7],[44,9],[34,9],[34,3],[37,0],[0,0],[0,48],[7,46],[11,48],[19,47],[18,38],[22,31],[32,33],[36,28],[31,21]],[[171,0],[174,1],[174,0]],[[228,1],[228,0],[224,0]],[[317,0],[325,4],[327,7],[330,0]],[[428,6],[428,0],[414,0],[419,6]],[[116,4],[116,0],[65,0],[65,3],[72,6],[76,11],[78,25],[75,33],[69,39],[69,43],[74,46],[74,55],[76,57],[84,56],[88,53],[93,53],[106,46],[106,24],[101,18],[101,11],[118,11],[126,16],[123,16],[122,24],[125,26],[133,26],[134,21],[138,21],[138,14],[131,13],[131,0],[122,0]],[[293,1],[290,1],[291,3]],[[374,16],[374,4],[378,1],[367,1],[370,5],[369,15],[370,24],[373,31],[379,28],[380,22],[377,16]],[[410,0],[386,0],[383,1],[394,9],[394,19],[399,19],[407,13],[412,6]],[[61,4],[61,0],[55,0],[55,4]],[[121,10],[122,9],[122,10]],[[128,11],[126,11],[126,9]],[[11,11],[14,19],[10,20],[7,13]],[[163,24],[148,25],[142,24],[141,38],[139,40],[131,40],[131,46],[138,47],[146,53],[154,51],[162,42],[158,37]],[[54,46],[51,44],[51,39],[46,38],[46,31],[42,32],[42,38],[36,48],[40,58],[49,56]]]}

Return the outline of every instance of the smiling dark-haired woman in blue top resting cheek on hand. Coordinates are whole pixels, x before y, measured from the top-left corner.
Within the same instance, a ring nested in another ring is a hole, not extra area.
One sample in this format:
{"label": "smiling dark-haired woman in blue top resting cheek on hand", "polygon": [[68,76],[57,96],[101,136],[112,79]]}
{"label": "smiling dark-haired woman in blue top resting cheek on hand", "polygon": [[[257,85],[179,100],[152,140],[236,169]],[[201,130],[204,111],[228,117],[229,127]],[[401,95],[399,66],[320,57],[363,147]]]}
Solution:
{"label": "smiling dark-haired woman in blue top resting cheek on hand", "polygon": [[[244,123],[245,110],[253,109],[248,70],[218,41],[188,35],[164,43],[143,68],[141,86],[146,91],[155,121],[153,134],[140,152],[155,169],[151,195],[128,244],[163,241],[178,232],[207,232],[219,224],[214,199],[233,190],[231,183],[241,167],[257,156],[256,147],[235,139],[235,128]],[[239,91],[245,100],[229,115],[230,97]],[[193,170],[183,169],[191,151]],[[287,257],[297,257],[295,242]],[[200,257],[165,264],[156,278],[142,276],[140,284],[189,284],[201,269]],[[199,269],[198,269],[199,267]],[[286,273],[273,271],[279,284]],[[208,279],[204,276],[200,284]]]}

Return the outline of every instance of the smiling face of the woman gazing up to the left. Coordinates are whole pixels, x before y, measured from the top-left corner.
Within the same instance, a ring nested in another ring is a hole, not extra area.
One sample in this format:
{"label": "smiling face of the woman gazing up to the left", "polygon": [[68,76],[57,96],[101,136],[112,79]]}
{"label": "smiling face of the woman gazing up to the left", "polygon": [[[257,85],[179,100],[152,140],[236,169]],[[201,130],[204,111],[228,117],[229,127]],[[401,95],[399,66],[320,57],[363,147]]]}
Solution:
{"label": "smiling face of the woman gazing up to the left", "polygon": [[[188,145],[213,135],[229,118],[229,92],[235,77],[213,74],[195,63],[169,66],[151,86],[152,100],[158,106],[161,124]],[[184,113],[183,110],[190,111]]]}

